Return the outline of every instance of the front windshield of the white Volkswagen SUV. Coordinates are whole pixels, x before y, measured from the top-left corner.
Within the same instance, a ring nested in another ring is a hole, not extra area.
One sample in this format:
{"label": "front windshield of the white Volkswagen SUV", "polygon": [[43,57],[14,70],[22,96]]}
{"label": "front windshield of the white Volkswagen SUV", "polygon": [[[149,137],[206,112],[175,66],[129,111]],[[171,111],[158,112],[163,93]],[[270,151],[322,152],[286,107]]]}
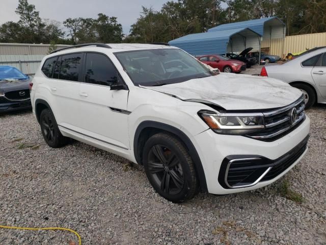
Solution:
{"label": "front windshield of the white Volkswagen SUV", "polygon": [[176,48],[115,53],[135,85],[159,86],[212,76],[195,58]]}

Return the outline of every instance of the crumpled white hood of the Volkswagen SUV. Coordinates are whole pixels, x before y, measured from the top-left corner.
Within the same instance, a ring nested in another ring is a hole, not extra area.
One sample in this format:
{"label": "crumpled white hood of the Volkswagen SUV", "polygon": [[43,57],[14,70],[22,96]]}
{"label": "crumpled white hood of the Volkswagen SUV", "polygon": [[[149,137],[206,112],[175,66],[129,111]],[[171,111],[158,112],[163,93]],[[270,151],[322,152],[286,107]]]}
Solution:
{"label": "crumpled white hood of the Volkswagen SUV", "polygon": [[178,97],[218,105],[226,110],[258,110],[287,106],[302,92],[277,79],[220,74],[182,83],[145,87]]}

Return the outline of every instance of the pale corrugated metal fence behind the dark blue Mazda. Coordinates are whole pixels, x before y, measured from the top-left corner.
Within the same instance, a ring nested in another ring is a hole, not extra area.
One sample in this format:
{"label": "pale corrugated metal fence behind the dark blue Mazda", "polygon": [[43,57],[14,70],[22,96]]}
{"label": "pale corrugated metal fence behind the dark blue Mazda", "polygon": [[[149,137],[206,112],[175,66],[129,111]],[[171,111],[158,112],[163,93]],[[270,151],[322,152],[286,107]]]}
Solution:
{"label": "pale corrugated metal fence behind the dark blue Mazda", "polygon": [[44,55],[0,55],[0,65],[10,65],[23,74],[34,75]]}

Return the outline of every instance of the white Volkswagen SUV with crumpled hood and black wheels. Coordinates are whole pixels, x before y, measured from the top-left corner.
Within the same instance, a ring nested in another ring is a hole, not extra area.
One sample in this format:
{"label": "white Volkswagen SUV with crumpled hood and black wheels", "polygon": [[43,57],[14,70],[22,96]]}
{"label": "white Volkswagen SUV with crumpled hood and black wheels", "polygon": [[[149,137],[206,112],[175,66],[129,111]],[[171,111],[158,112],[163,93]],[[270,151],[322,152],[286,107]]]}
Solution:
{"label": "white Volkswagen SUV with crumpled hood and black wheels", "polygon": [[74,138],[141,164],[173,202],[268,185],[307,151],[300,90],[214,73],[176,47],[76,45],[46,56],[32,82],[49,146]]}

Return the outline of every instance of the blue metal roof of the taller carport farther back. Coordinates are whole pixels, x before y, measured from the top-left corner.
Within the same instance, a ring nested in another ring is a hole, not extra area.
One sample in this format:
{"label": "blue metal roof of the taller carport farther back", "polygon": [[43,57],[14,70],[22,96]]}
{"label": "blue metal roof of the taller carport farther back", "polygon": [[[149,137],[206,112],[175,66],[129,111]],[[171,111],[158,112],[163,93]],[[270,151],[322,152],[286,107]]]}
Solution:
{"label": "blue metal roof of the taller carport farther back", "polygon": [[279,20],[280,24],[285,26],[282,20],[280,20],[278,17],[268,17],[268,18],[253,19],[253,20],[234,22],[228,24],[221,24],[220,26],[208,29],[207,32],[223,31],[223,30],[238,29],[238,28],[250,28],[251,30],[259,33],[262,36],[264,34],[265,22],[272,19]]}

